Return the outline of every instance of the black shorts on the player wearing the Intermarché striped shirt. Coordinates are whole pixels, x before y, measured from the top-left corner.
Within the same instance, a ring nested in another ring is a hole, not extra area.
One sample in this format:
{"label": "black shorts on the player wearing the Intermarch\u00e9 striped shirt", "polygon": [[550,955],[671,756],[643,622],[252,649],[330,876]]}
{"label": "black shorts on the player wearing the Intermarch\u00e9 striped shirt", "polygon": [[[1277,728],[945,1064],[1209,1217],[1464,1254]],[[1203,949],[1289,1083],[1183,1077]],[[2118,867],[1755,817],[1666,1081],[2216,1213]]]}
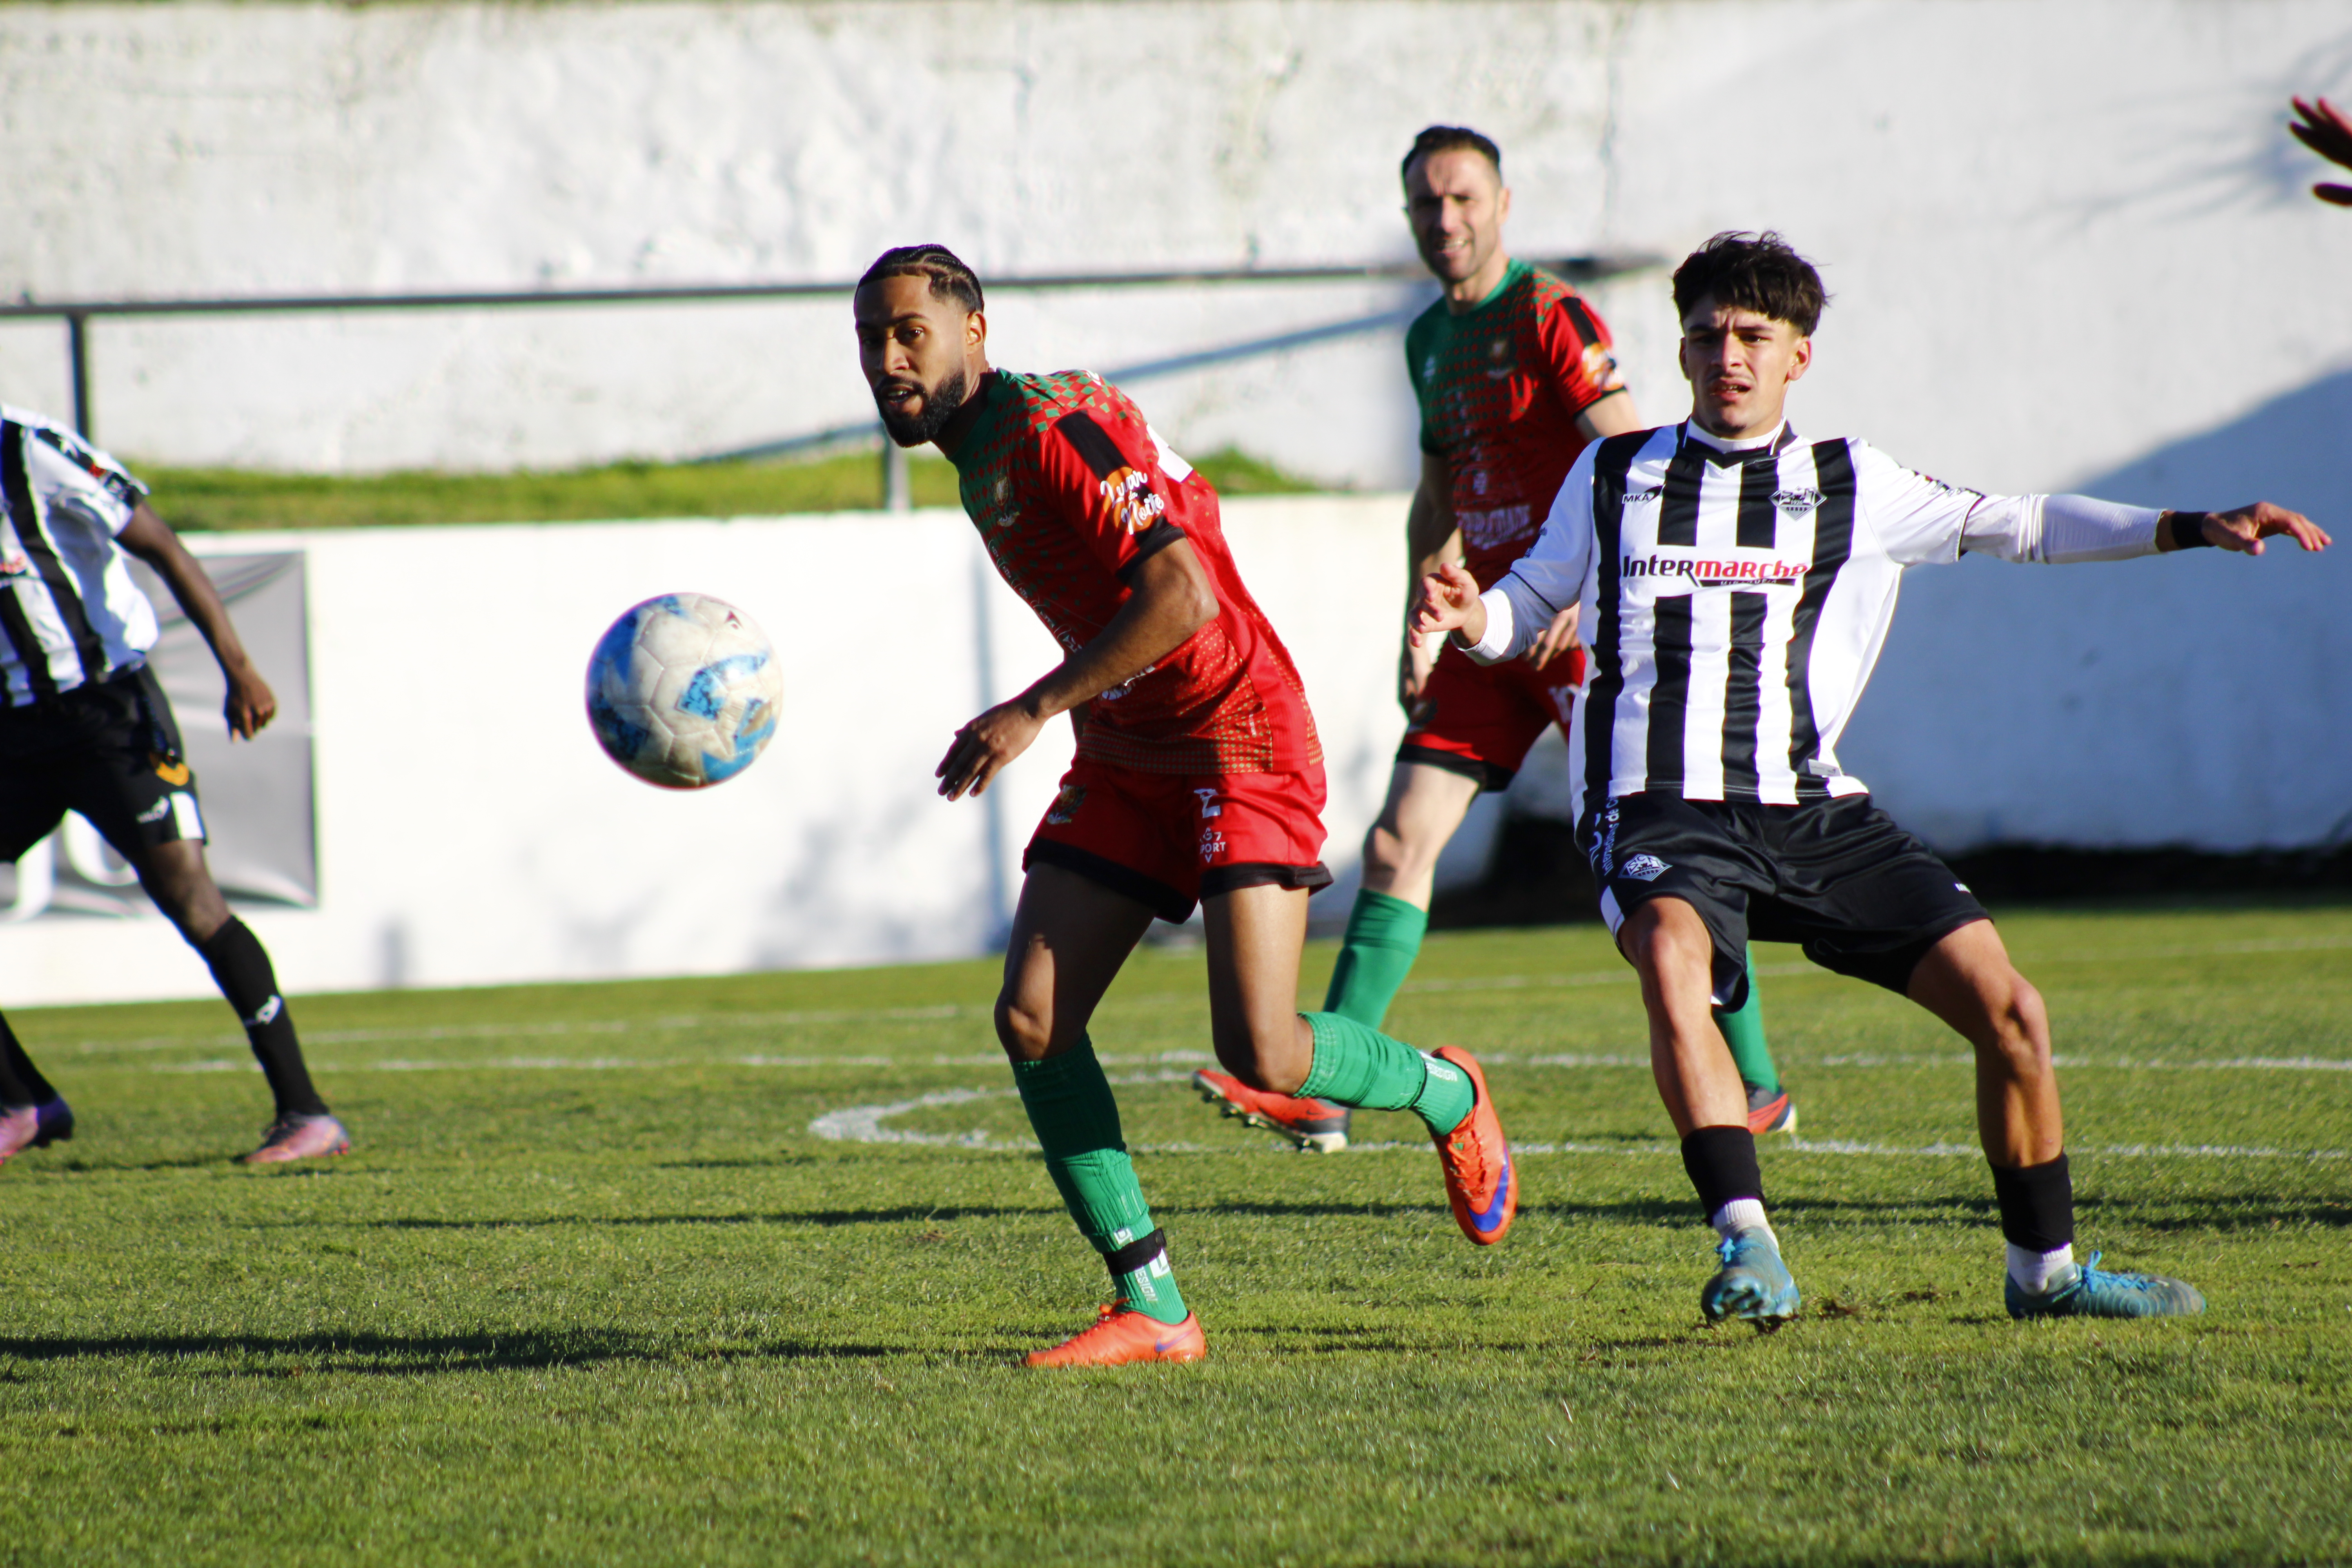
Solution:
{"label": "black shorts on the player wearing the Intermarch\u00e9 striped shirt", "polygon": [[1985,914],[1952,867],[1867,795],[1802,806],[1621,795],[1585,811],[1611,936],[1651,898],[1682,898],[1715,938],[1715,1004],[1748,999],[1748,943],[1907,992],[1929,947]]}

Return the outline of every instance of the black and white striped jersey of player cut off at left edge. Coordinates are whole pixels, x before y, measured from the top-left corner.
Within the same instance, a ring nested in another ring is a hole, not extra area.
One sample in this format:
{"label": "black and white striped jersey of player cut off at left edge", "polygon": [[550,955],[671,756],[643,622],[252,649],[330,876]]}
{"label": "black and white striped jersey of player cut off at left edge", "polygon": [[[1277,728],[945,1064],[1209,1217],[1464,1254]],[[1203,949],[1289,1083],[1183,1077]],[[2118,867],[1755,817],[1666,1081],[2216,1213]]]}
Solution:
{"label": "black and white striped jersey of player cut off at left edge", "polygon": [[115,534],[146,487],[73,430],[0,404],[0,691],[9,708],[146,661],[155,607]]}

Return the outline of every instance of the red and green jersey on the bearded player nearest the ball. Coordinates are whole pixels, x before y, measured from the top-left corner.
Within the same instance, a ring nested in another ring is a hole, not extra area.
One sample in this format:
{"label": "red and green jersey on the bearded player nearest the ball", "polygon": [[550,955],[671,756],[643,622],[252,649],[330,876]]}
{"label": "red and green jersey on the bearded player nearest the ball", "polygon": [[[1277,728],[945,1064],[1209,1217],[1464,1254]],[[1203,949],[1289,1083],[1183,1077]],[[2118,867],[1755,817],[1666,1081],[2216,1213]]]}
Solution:
{"label": "red and green jersey on the bearded player nearest the ball", "polygon": [[1167,658],[1084,708],[1077,755],[1143,773],[1289,773],[1322,762],[1315,717],[1265,611],[1225,548],[1216,491],[1091,371],[981,383],[955,449],[964,510],[997,574],[1063,649],[1094,642],[1150,555],[1178,538],[1218,614]]}

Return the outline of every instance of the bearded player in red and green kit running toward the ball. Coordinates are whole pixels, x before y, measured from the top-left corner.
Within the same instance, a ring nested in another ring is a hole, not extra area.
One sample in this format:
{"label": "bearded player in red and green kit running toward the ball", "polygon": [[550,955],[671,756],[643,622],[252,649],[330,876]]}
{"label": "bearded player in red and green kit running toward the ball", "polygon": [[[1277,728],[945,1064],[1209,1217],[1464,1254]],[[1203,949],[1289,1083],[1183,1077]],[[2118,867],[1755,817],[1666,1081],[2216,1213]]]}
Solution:
{"label": "bearded player in red and green kit running toward the ball", "polygon": [[1242,585],[1216,491],[1117,388],[988,367],[981,280],[946,247],[884,252],[856,289],[858,367],[894,442],[957,468],[988,557],[1065,658],[964,724],[938,792],[978,795],[1068,712],[1077,757],[1030,837],[997,1039],[1070,1218],[1115,1300],[1028,1366],[1197,1361],[1167,1237],[1120,1135],[1087,1025],[1152,919],[1202,910],[1209,1032],[1251,1088],[1411,1110],[1454,1220],[1501,1241],[1517,1206],[1477,1063],[1298,1013],[1322,851],[1322,750],[1291,656]]}

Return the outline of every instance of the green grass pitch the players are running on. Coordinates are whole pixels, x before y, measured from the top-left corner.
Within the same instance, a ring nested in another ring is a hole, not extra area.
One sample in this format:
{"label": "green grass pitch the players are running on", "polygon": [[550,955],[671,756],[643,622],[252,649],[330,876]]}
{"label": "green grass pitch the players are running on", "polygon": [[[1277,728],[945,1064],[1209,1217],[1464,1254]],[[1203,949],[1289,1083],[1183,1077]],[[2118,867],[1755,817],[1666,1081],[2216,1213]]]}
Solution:
{"label": "green grass pitch the players are running on", "polygon": [[990,964],[296,999],[360,1150],[282,1173],[226,1164],[219,1004],[14,1013],[82,1131],[0,1173],[0,1559],[2352,1559],[2352,910],[2004,929],[2084,1246],[2206,1316],[2011,1324],[1962,1046],[1778,947],[1788,1331],[1698,1326],[1597,929],[1432,938],[1390,1020],[1489,1063],[1491,1251],[1404,1117],[1312,1159],[1200,1107],[1200,957],[1145,952],[1094,1034],[1211,1354],[1061,1375],[1014,1361],[1105,1279]]}

